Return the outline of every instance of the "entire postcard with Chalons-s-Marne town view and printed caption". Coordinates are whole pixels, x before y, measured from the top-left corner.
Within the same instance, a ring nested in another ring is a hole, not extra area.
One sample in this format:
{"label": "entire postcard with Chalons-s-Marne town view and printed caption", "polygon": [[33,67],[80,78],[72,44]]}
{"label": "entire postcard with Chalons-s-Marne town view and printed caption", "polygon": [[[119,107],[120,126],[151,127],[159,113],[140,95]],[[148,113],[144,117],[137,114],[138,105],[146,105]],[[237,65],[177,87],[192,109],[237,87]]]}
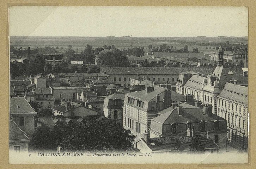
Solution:
{"label": "entire postcard with Chalons-s-Marne town view and printed caption", "polygon": [[8,31],[10,164],[249,162],[248,7],[11,6]]}

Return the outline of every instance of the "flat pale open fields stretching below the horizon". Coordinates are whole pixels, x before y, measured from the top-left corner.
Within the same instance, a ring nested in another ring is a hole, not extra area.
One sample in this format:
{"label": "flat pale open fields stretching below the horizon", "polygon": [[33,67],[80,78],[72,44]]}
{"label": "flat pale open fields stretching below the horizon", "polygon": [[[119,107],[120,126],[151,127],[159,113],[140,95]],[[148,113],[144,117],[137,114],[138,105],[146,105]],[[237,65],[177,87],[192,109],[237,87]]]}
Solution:
{"label": "flat pale open fields stretching below the horizon", "polygon": [[[14,36],[10,37],[10,45],[14,46],[14,48],[30,49],[33,48],[43,48],[44,46],[50,46],[56,48],[57,46],[63,47],[63,49],[58,49],[57,51],[65,52],[68,49],[68,45],[71,44],[73,49],[78,48],[78,51],[84,51],[87,44],[92,45],[93,48],[103,47],[104,45],[114,45],[116,48],[131,48],[132,47],[144,47],[144,51],[147,52],[148,45],[152,45],[153,47],[157,47],[163,45],[164,43],[167,46],[174,46],[177,49],[182,49],[184,44],[176,43],[176,42],[164,42],[165,38],[159,39],[160,42],[153,42],[151,39],[141,38],[123,38],[123,37],[29,37],[29,36]],[[167,39],[167,38],[166,38]],[[169,38],[168,38],[169,39]],[[170,38],[171,39],[171,38]],[[174,39],[174,38],[173,38]],[[216,49],[206,49],[206,47],[216,47],[216,46],[190,46],[189,50],[193,50],[194,48],[198,48],[199,52],[210,53]],[[173,48],[175,49],[175,48]]]}

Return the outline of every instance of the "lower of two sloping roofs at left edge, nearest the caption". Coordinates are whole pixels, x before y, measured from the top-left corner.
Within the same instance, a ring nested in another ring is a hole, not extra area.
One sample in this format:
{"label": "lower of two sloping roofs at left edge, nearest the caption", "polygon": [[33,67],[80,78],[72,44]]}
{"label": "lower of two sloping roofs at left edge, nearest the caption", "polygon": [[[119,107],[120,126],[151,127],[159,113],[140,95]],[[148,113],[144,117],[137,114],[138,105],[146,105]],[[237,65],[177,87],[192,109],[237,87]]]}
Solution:
{"label": "lower of two sloping roofs at left edge, nearest the caption", "polygon": [[9,140],[14,141],[14,140],[28,140],[29,136],[13,121],[10,120],[9,124]]}

